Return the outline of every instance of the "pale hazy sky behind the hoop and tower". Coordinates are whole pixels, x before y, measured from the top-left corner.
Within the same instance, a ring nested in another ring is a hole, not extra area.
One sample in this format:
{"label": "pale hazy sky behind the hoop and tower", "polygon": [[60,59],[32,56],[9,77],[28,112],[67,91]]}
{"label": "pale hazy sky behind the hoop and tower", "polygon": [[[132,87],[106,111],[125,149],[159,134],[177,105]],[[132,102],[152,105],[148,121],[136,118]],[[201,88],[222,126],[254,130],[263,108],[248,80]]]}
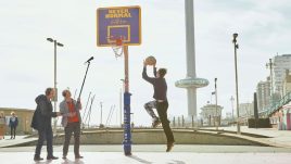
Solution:
{"label": "pale hazy sky behind the hoop and tower", "polygon": [[[105,7],[140,5],[142,43],[129,47],[129,87],[136,125],[151,125],[143,104],[152,100],[152,86],[141,78],[142,61],[157,59],[157,67],[167,67],[169,116],[187,115],[187,92],[175,81],[186,77],[186,31],[184,0],[14,0],[0,1],[0,108],[36,108],[35,98],[53,87],[53,43],[58,48],[58,88],[80,89],[90,56],[91,62],[81,100],[96,94],[91,124],[103,122],[115,105],[111,124],[119,124],[121,79],[124,59],[115,59],[111,48],[96,46],[96,10]],[[290,53],[290,0],[195,0],[197,76],[210,85],[198,89],[198,113],[207,101],[218,104],[223,115],[231,112],[230,97],[236,94],[232,34],[238,33],[239,102],[252,102],[260,80],[269,71],[269,58]],[[151,73],[149,73],[151,75]],[[59,102],[62,100],[59,91]]]}

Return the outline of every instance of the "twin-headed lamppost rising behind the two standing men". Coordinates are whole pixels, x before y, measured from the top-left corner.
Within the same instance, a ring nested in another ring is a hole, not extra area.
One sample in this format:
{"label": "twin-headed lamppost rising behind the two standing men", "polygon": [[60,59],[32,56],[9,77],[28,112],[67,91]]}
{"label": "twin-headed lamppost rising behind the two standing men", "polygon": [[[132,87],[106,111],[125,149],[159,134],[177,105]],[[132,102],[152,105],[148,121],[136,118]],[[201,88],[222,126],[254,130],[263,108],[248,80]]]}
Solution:
{"label": "twin-headed lamppost rising behind the two standing men", "polygon": [[[58,89],[56,89],[56,47],[64,47],[63,43],[61,42],[58,42],[55,39],[52,39],[52,38],[47,38],[48,41],[50,42],[53,42],[53,67],[54,67],[54,73],[53,73],[53,88],[54,88],[54,91],[55,91],[55,96],[53,98],[53,111],[56,112],[56,102],[58,102]],[[56,118],[54,118],[53,121],[53,131],[54,134],[56,134]]]}

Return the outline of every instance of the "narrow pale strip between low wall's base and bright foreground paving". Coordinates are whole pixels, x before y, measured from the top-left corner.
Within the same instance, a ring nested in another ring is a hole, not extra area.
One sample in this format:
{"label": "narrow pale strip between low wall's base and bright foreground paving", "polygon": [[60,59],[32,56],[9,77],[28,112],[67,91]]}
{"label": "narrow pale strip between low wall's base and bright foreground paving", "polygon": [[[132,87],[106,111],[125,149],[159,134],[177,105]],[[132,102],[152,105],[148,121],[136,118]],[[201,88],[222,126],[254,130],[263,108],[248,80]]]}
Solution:
{"label": "narrow pale strip between low wall's base and bright foreground paving", "polygon": [[[159,152],[164,153],[166,147],[163,144],[132,144],[132,152]],[[54,152],[62,152],[62,146],[54,146]],[[0,152],[30,152],[35,147],[0,148]],[[73,146],[69,147],[73,152]],[[122,144],[91,144],[80,146],[81,152],[123,152]],[[42,148],[46,154],[46,146]],[[253,146],[203,146],[203,144],[176,144],[173,152],[191,153],[291,153],[291,148],[253,147]]]}

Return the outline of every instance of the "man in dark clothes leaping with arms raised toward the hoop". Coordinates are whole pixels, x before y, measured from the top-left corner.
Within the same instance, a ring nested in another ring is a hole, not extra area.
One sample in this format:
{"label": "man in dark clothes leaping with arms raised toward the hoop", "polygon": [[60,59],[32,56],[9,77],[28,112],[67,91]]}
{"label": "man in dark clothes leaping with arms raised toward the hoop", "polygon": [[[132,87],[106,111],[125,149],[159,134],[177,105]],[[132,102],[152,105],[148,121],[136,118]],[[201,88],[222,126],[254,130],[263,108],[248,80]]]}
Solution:
{"label": "man in dark clothes leaping with arms raised toward the hoop", "polygon": [[[164,76],[166,75],[165,68],[160,68],[156,72],[155,64],[153,65],[153,74],[155,77],[149,77],[147,74],[147,66],[148,63],[143,61],[143,72],[142,78],[150,84],[153,85],[154,88],[154,101],[150,101],[144,104],[144,109],[153,118],[153,127],[156,127],[159,124],[162,123],[164,133],[167,138],[167,149],[166,152],[169,152],[174,147],[175,140],[173,136],[173,131],[169,127],[169,121],[167,119],[167,109],[168,109],[168,101],[167,101],[167,84]],[[159,117],[154,114],[152,109],[156,109]]]}

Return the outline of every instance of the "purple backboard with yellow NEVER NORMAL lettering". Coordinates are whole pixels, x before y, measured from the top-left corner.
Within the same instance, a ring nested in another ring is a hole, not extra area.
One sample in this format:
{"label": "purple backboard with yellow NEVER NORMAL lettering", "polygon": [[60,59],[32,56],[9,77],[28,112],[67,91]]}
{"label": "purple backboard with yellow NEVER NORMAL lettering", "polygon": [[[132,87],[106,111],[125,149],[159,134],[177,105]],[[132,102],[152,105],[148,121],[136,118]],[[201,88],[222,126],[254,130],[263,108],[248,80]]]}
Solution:
{"label": "purple backboard with yellow NEVER NORMAL lettering", "polygon": [[141,43],[140,7],[111,7],[97,10],[97,46],[111,47],[116,39],[124,46]]}

